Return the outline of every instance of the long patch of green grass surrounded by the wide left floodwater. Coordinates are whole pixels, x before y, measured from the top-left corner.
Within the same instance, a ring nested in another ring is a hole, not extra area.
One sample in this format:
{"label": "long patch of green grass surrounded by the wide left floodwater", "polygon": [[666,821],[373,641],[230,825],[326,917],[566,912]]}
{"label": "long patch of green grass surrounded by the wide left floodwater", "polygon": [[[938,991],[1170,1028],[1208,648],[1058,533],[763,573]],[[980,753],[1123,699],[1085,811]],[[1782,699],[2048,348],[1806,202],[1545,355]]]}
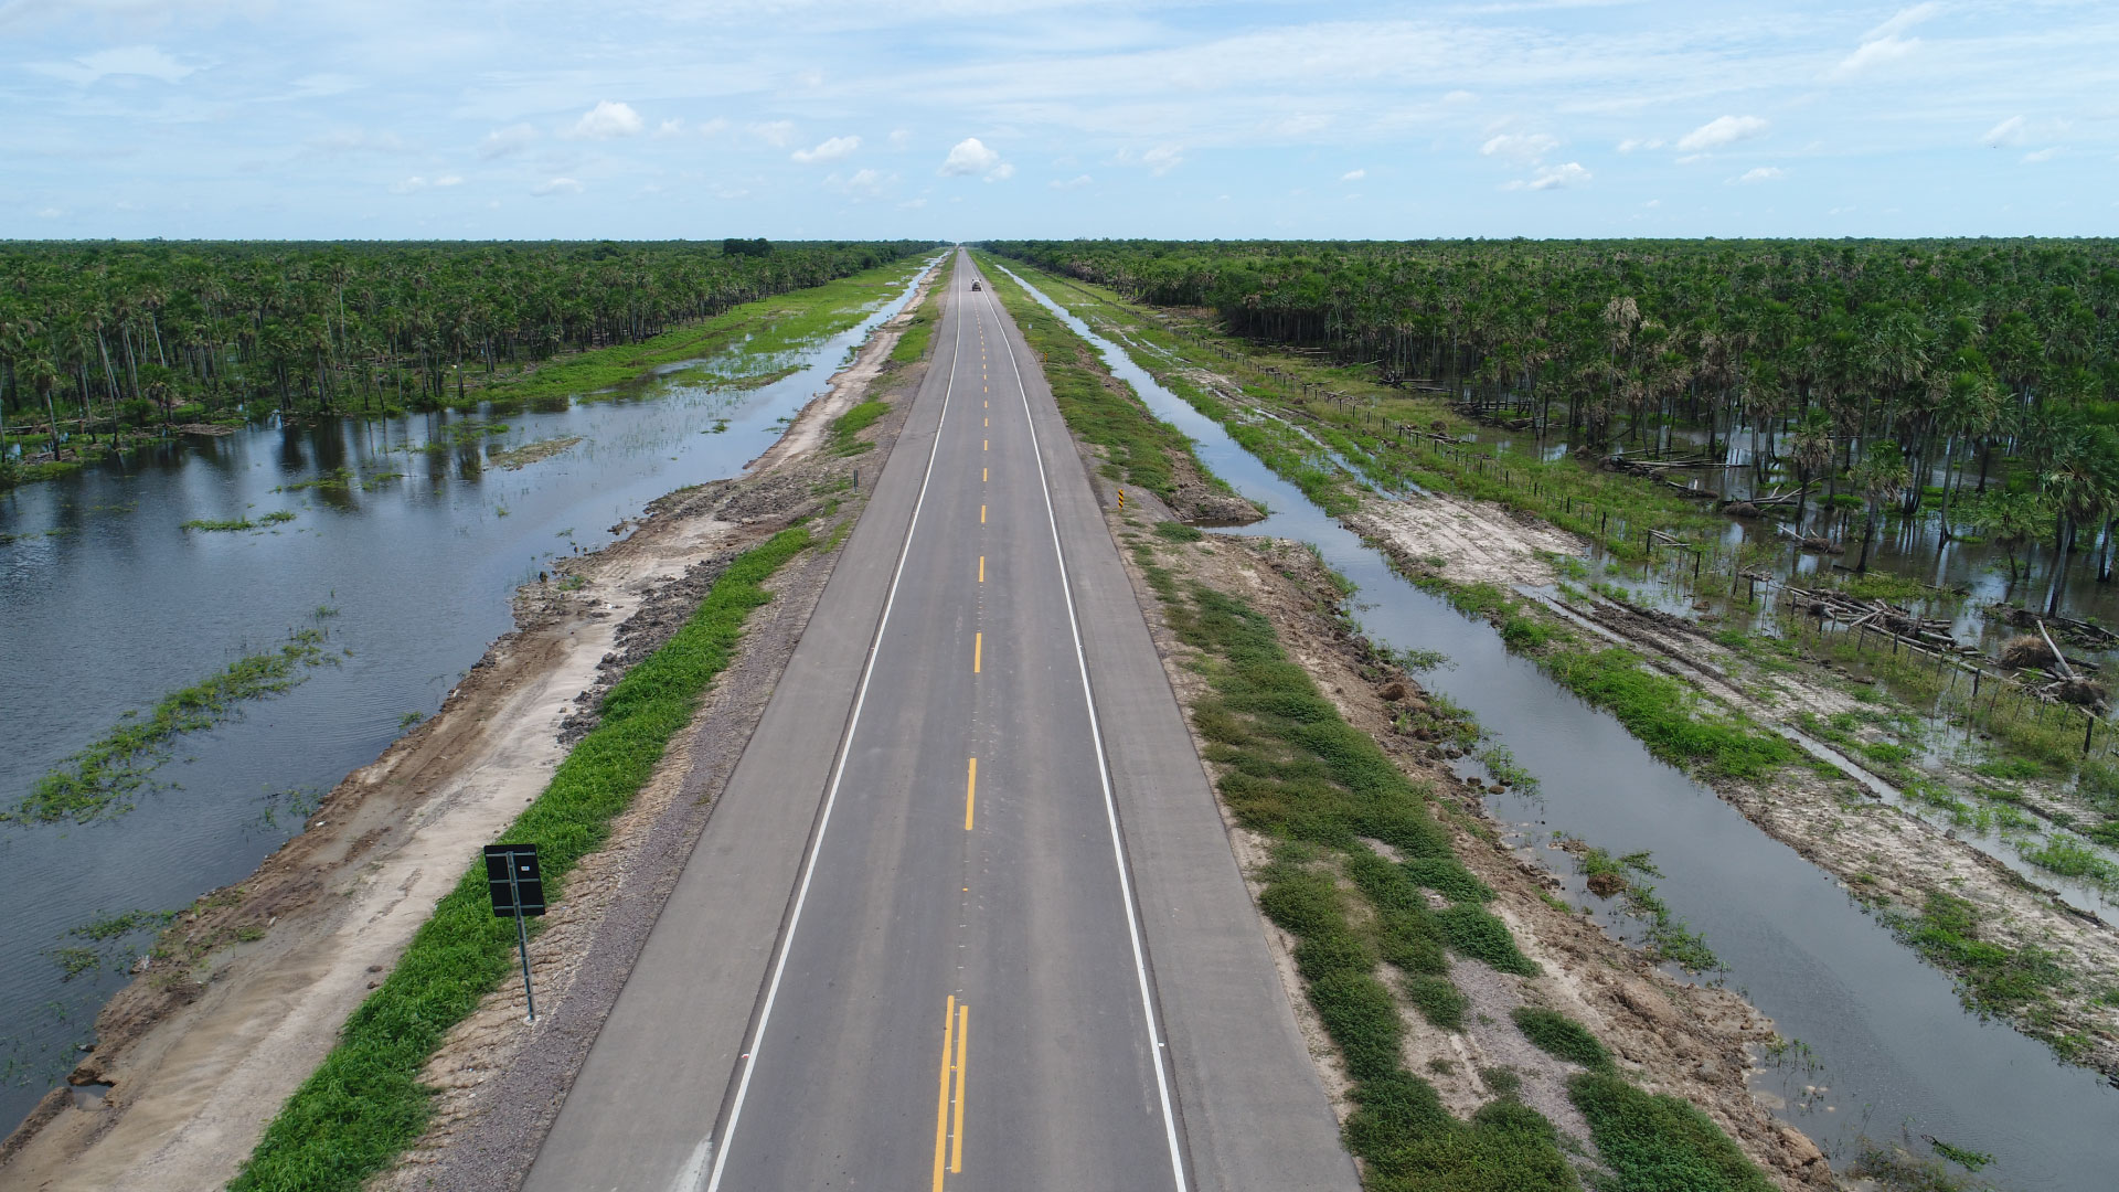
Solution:
{"label": "long patch of green grass surrounded by the wide left floodwater", "polygon": [[131,810],[148,772],[170,757],[172,742],[214,728],[235,704],[275,696],[301,683],[324,658],[324,634],[295,630],[278,649],[250,653],[222,672],[170,691],[144,717],[127,713],[87,749],[38,778],[28,797],[0,808],[0,823],[87,823]]}

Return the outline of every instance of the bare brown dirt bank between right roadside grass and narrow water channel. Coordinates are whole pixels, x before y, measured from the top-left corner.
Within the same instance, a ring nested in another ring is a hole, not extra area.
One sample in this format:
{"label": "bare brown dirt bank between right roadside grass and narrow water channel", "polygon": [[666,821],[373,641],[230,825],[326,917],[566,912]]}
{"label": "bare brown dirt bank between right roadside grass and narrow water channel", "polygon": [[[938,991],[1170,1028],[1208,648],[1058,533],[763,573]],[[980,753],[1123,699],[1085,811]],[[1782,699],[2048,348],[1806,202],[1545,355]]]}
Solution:
{"label": "bare brown dirt bank between right roadside grass and narrow water channel", "polygon": [[[1136,511],[1134,528],[1157,513]],[[1110,528],[1123,539],[1129,526],[1112,511]],[[1464,541],[1479,541],[1492,528],[1481,532],[1452,528],[1452,534],[1462,534]],[[1530,551],[1547,547],[1536,537],[1524,539],[1521,558],[1534,562]],[[1206,691],[1206,683],[1189,666],[1189,647],[1163,619],[1161,602],[1140,573],[1138,560],[1123,549],[1121,556],[1148,615],[1165,672],[1178,698],[1191,704]],[[1494,1097],[1515,1094],[1562,1133],[1574,1139],[1589,1137],[1587,1124],[1566,1094],[1566,1077],[1579,1069],[1536,1050],[1509,1027],[1509,1012],[1517,1005],[1543,1005],[1587,1024],[1613,1050],[1621,1069],[1651,1092],[1682,1097],[1706,1111],[1782,1188],[1833,1186],[1818,1147],[1776,1120],[1746,1086],[1752,1050],[1776,1039],[1771,1022],[1727,988],[1672,980],[1646,957],[1606,935],[1593,921],[1547,901],[1547,895],[1560,889],[1560,880],[1509,848],[1504,825],[1488,817],[1475,793],[1466,793],[1439,747],[1394,728],[1394,711],[1405,706],[1403,700],[1420,698],[1418,683],[1403,672],[1386,683],[1363,677],[1365,670],[1377,670],[1379,660],[1369,643],[1333,615],[1329,600],[1320,598],[1333,592],[1333,585],[1307,549],[1286,541],[1210,537],[1204,543],[1159,545],[1157,562],[1185,579],[1237,594],[1265,613],[1282,647],[1310,670],[1318,689],[1337,704],[1348,723],[1373,736],[1411,778],[1439,791],[1437,800],[1447,808],[1458,857],[1496,891],[1490,910],[1509,925],[1524,954],[1538,963],[1541,976],[1521,978],[1479,961],[1454,959],[1449,980],[1471,999],[1460,1031],[1437,1029],[1409,1005],[1401,1005],[1407,1029],[1405,1063],[1437,1086],[1454,1114],[1468,1118]],[[1195,747],[1206,749],[1197,734]],[[1269,842],[1235,827],[1231,814],[1225,812],[1225,819],[1231,823],[1237,859],[1246,872],[1257,870],[1267,859]],[[1388,846],[1369,844],[1388,855]],[[1252,887],[1254,897],[1257,893],[1259,887]],[[1346,1097],[1350,1082],[1303,993],[1293,961],[1295,940],[1263,916],[1261,929],[1274,940],[1288,1001],[1343,1120],[1354,1109]],[[1496,1071],[1509,1075],[1494,1077]],[[1498,1090],[1490,1080],[1511,1080],[1519,1086]]]}

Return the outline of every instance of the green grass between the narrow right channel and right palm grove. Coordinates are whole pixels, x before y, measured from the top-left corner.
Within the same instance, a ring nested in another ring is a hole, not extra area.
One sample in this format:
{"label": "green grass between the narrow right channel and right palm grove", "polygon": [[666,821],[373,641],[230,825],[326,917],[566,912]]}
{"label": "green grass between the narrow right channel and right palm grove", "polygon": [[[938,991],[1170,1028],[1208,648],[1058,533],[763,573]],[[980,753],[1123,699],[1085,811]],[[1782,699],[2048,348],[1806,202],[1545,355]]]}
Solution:
{"label": "green grass between the narrow right channel and right palm grove", "polygon": [[[1032,276],[1032,274],[1026,274]],[[1246,344],[1210,337],[1206,329],[1191,329],[1176,335],[1153,316],[1125,308],[1106,291],[1085,286],[1049,274],[1034,274],[1038,284],[1047,280],[1053,291],[1066,295],[1068,303],[1081,303],[1076,314],[1106,322],[1110,331],[1123,333],[1144,350],[1136,363],[1155,373],[1178,397],[1191,401],[1204,414],[1221,420],[1233,431],[1244,428],[1254,439],[1267,439],[1271,450],[1252,448],[1278,475],[1301,486],[1314,501],[1333,507],[1352,507],[1354,490],[1367,488],[1365,477],[1346,475],[1333,467],[1314,443],[1305,443],[1293,422],[1257,420],[1240,416],[1229,403],[1214,395],[1201,395],[1180,373],[1185,367],[1212,369],[1218,373],[1240,373],[1244,397],[1263,407],[1278,407],[1301,420],[1318,441],[1337,450],[1348,462],[1363,467],[1367,479],[1396,484],[1409,477],[1422,488],[1460,492],[1481,501],[1496,501],[1513,511],[1543,518],[1562,528],[1574,530],[1591,541],[1600,541],[1610,554],[1621,558],[1646,558],[1636,537],[1640,528],[1659,528],[1672,534],[1708,541],[1725,518],[1702,513],[1697,503],[1689,503],[1649,486],[1640,477],[1602,473],[1585,469],[1574,460],[1532,464],[1511,460],[1507,464],[1447,450],[1420,437],[1403,437],[1403,443],[1388,435],[1382,424],[1422,418],[1452,422],[1452,433],[1464,428],[1462,420],[1428,403],[1418,411],[1399,409],[1392,401],[1405,399],[1396,390],[1367,395],[1382,403],[1384,418],[1373,418],[1365,407],[1337,409],[1331,405],[1299,403],[1299,382],[1312,380],[1329,384],[1341,392],[1379,390],[1373,382],[1358,378],[1356,369],[1318,367],[1288,356],[1252,356]],[[1053,293],[1047,291],[1047,293]],[[1233,358],[1223,358],[1227,352]],[[1276,369],[1280,375],[1276,375]],[[1204,397],[1204,401],[1201,401]],[[1426,420],[1422,420],[1426,424]],[[1246,445],[1250,441],[1246,439]],[[1301,460],[1301,469],[1290,469],[1288,460]],[[1420,467],[1428,464],[1428,467]],[[1602,534],[1600,534],[1602,530]],[[1666,551],[1668,554],[1668,551]],[[1651,670],[1644,660],[1600,641],[1587,641],[1572,626],[1551,615],[1547,609],[1517,598],[1494,585],[1458,583],[1413,560],[1396,560],[1407,577],[1432,592],[1447,596],[1460,611],[1485,617],[1494,624],[1502,641],[1517,653],[1532,658],[1549,677],[1566,685],[1591,704],[1608,708],[1634,736],[1666,761],[1687,768],[1710,781],[1769,781],[1782,766],[1816,766],[1829,776],[1837,770],[1808,761],[1793,744],[1778,734],[1757,725],[1742,713],[1702,700],[1689,685]],[[1731,564],[1748,566],[1742,556]],[[1653,566],[1653,564],[1651,564]],[[1566,568],[1564,568],[1566,571]],[[1850,577],[1841,579],[1858,592],[1899,596],[1894,577]],[[1848,634],[1820,632],[1799,617],[1782,617],[1782,636],[1769,634],[1723,634],[1723,645],[1744,651],[1761,672],[1793,666],[1799,660],[1831,660],[1841,666],[1860,664],[1873,685],[1827,679],[1827,683],[1850,687],[1854,698],[1869,713],[1833,717],[1846,723],[1799,725],[1818,728],[1818,736],[1852,744],[1858,753],[1892,778],[1909,797],[1949,810],[1966,825],[1988,825],[1994,817],[2022,814],[2009,806],[2007,791],[1983,787],[1966,797],[1966,791],[1952,789],[1933,776],[1916,774],[1905,761],[1918,751],[1918,725],[1911,721],[1913,708],[1930,708],[1928,715],[1954,719],[1988,736],[1990,759],[1981,770],[2000,774],[2066,774],[2081,768],[2083,787],[2091,806],[2102,808],[2102,823],[2089,825],[2089,834],[2119,836],[2119,770],[2091,759],[2079,761],[2081,721],[2058,723],[2062,717],[2043,711],[2028,700],[2002,698],[1998,685],[1986,687],[1986,698],[1971,700],[1969,685],[1954,681],[1949,672],[1939,672],[1930,660],[1913,653],[1892,653],[1888,649],[1860,649]],[[1899,725],[1903,740],[1869,742],[1860,749],[1850,730],[1869,725]],[[1860,802],[1860,791],[1848,781],[1848,797]],[[1990,806],[1979,806],[1986,800]],[[1998,810],[1996,810],[1998,808]],[[2007,821],[2005,821],[2007,823]],[[2032,863],[2047,863],[2053,872],[2094,870],[2098,857],[2068,846],[2047,846],[2047,853],[2026,853]],[[1860,889],[1856,880],[1856,891]],[[1875,899],[1871,899],[1875,901]],[[1877,910],[1894,931],[1922,952],[1930,963],[1954,974],[1964,1003],[1979,1014],[2009,1016],[2026,1033],[2047,1041],[2062,1056],[2079,1056],[2083,1039],[2060,1031],[2053,1022],[2055,995],[2068,988],[2066,976],[2055,967],[2053,954],[2036,948],[2011,948],[1979,940],[1979,925],[1964,914],[1962,899],[1949,893],[1930,893],[1922,906],[1880,906]],[[1651,908],[1651,927],[1655,925]],[[1653,931],[1651,931],[1653,933]],[[1676,927],[1672,942],[1682,954],[1689,935]]]}

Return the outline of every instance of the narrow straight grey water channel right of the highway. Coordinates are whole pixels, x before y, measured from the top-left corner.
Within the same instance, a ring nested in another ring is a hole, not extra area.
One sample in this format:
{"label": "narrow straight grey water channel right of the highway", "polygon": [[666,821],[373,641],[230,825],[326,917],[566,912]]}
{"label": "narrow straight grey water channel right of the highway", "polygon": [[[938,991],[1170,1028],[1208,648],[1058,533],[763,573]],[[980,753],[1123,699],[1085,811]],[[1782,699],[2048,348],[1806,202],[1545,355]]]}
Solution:
{"label": "narrow straight grey water channel right of the highway", "polygon": [[[1013,274],[1011,274],[1013,276]],[[1021,280],[1021,278],[1017,278]],[[1363,632],[1394,649],[1441,649],[1452,666],[1422,681],[1471,708],[1541,781],[1534,797],[1488,797],[1517,829],[1524,855],[1557,874],[1572,857],[1551,846],[1568,831],[1610,853],[1646,848],[1663,872],[1657,893],[1727,965],[1723,978],[1799,1039],[1808,1058],[1782,1058],[1755,1092],[1844,1164],[1858,1139],[1933,1135],[1994,1156],[1981,1177],[2013,1190],[2111,1188],[2119,1088],[2064,1067],[2045,1044],[1969,1014],[1949,976],[1848,897],[1839,882],[1750,825],[1712,789],[1657,761],[1610,715],[1507,651],[1481,619],[1456,613],[1363,545],[1295,486],[1276,477],[1223,426],[1161,388],[1134,358],[1043,293],[1023,286],[1104,354],[1148,407],[1189,435],[1201,462],[1271,515],[1244,534],[1316,545],[1358,585]],[[1572,901],[1608,929],[1636,925],[1570,880]]]}

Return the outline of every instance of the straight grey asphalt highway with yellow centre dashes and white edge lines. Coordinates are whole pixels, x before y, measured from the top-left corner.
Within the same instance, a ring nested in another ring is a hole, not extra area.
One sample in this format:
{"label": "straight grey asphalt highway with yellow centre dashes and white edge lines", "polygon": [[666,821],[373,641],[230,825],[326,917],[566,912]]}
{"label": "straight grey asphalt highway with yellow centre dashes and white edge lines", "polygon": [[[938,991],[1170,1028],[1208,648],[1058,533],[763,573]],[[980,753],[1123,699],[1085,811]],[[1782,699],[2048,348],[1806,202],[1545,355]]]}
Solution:
{"label": "straight grey asphalt highway with yellow centre dashes and white edge lines", "polygon": [[975,278],[532,1190],[1354,1186],[1098,494]]}

